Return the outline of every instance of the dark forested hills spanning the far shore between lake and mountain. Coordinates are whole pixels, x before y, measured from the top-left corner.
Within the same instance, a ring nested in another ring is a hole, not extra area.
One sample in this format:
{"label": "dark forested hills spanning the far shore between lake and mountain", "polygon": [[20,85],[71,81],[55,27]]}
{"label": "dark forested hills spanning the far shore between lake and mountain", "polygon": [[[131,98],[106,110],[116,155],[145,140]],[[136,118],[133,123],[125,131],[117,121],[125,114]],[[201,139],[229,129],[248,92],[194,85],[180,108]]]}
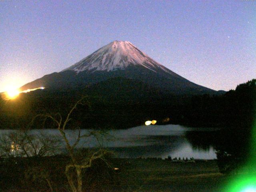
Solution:
{"label": "dark forested hills spanning the far shore between lake and mountain", "polygon": [[[116,86],[116,83],[120,86]],[[14,100],[0,101],[0,128],[26,127],[38,114],[67,114],[82,96],[86,105],[73,114],[80,128],[130,128],[157,120],[157,124],[207,127],[250,126],[255,114],[255,80],[222,95],[175,96],[145,84],[117,79],[81,91],[37,90]],[[117,87],[121,87],[118,88]],[[88,108],[89,104],[90,108]],[[34,128],[42,128],[37,123]],[[44,128],[52,128],[46,124]]]}

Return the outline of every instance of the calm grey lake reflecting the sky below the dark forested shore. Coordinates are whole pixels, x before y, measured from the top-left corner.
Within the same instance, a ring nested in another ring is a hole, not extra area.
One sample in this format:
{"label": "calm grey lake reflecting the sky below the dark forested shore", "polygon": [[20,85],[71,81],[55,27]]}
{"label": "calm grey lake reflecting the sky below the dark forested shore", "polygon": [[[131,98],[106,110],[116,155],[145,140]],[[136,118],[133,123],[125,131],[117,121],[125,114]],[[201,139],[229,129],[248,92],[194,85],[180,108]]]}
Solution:
{"label": "calm grey lake reflecting the sky below the dark forested shore", "polygon": [[[186,133],[191,131],[209,132],[217,130],[214,128],[190,128],[180,125],[149,125],[137,126],[126,130],[111,130],[108,135],[101,136],[96,140],[94,137],[80,140],[79,148],[98,147],[99,145],[108,147],[114,151],[118,158],[216,158],[213,146],[200,148],[193,146],[186,138]],[[5,134],[13,130],[0,130],[0,134]],[[60,136],[58,130],[31,130],[34,134],[50,134]],[[81,130],[85,134],[88,130]],[[71,143],[74,143],[78,135],[78,130],[66,130]],[[63,144],[64,147],[64,144]]]}

